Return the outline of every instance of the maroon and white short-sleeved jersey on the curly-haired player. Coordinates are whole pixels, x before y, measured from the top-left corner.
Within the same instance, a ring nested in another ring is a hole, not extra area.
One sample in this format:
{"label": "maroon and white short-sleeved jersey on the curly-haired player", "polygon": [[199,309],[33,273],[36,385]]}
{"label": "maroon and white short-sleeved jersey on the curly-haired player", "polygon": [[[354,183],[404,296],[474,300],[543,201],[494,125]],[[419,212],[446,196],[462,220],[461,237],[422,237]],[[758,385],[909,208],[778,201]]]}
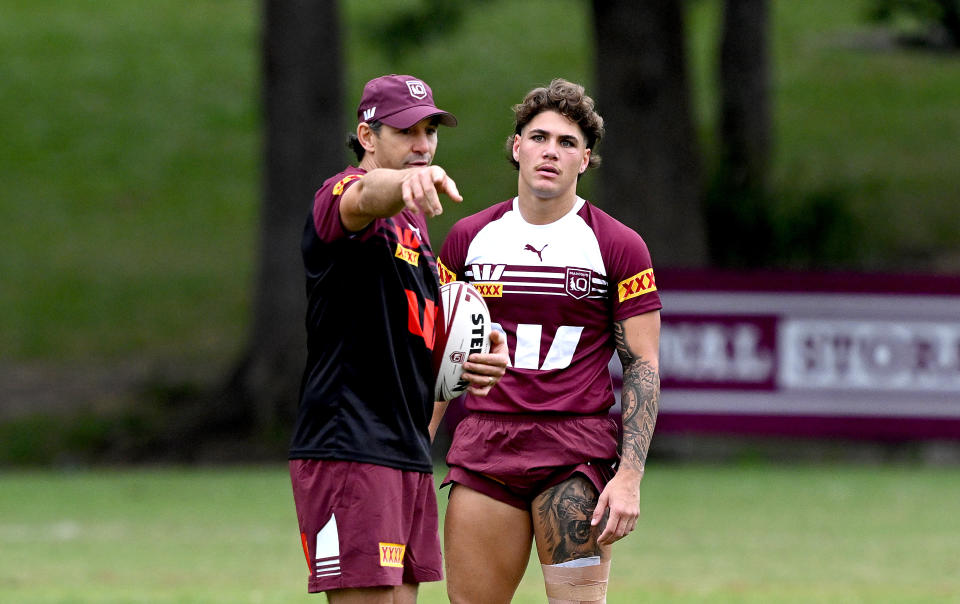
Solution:
{"label": "maroon and white short-sleeved jersey on the curly-haired player", "polygon": [[440,252],[441,283],[472,283],[507,336],[510,366],[471,411],[605,413],[613,323],[661,308],[635,231],[587,201],[544,225],[516,198],[458,221]]}

